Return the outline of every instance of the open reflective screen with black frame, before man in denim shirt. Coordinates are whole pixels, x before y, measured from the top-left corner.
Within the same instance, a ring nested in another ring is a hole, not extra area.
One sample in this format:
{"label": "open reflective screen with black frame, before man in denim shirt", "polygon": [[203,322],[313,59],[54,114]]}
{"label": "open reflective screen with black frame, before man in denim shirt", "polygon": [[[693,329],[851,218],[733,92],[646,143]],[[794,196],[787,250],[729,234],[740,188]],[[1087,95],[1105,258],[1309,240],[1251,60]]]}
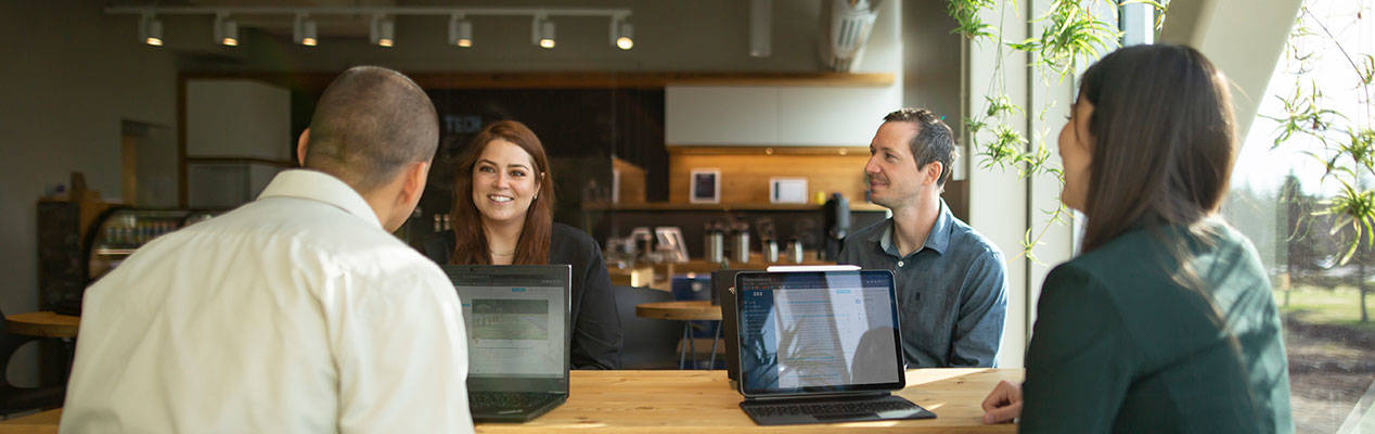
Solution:
{"label": "open reflective screen with black frame, before man in denim shirt", "polygon": [[736,284],[744,395],[905,386],[891,271],[741,273]]}

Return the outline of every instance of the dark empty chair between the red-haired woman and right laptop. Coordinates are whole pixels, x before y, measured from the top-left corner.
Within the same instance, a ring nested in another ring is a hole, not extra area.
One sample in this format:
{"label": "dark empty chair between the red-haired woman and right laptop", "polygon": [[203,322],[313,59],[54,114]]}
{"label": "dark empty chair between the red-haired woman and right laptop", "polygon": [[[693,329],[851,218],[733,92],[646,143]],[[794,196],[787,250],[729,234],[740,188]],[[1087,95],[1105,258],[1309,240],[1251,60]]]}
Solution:
{"label": "dark empty chair between the red-haired woman and right laptop", "polygon": [[676,369],[678,339],[683,329],[678,321],[641,318],[635,306],[641,303],[672,302],[674,295],[664,291],[634,287],[615,287],[616,314],[620,316],[623,347],[620,364],[623,369]]}

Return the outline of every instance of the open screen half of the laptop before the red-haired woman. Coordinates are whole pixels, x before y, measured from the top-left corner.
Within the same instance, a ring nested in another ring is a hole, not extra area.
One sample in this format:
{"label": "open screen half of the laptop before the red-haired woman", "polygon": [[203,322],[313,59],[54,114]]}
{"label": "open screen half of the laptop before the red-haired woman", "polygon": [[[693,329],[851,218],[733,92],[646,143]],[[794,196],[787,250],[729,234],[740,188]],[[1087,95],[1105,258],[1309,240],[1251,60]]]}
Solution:
{"label": "open screen half of the laptop before the red-haired woman", "polygon": [[566,375],[568,266],[444,266],[444,271],[463,307],[470,384]]}

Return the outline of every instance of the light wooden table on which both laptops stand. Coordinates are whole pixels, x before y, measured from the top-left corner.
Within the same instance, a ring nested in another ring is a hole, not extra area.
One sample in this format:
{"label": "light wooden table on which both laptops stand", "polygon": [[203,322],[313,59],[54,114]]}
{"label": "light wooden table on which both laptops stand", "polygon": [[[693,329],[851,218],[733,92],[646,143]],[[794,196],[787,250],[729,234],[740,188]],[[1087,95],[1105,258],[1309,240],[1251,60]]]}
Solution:
{"label": "light wooden table on which both laptops stand", "polygon": [[[573,371],[568,402],[528,423],[483,423],[477,433],[1015,433],[983,424],[983,398],[1022,369],[913,369],[898,394],[936,413],[876,420],[762,427],[740,411],[725,371]],[[56,433],[60,411],[0,423],[0,433]]]}

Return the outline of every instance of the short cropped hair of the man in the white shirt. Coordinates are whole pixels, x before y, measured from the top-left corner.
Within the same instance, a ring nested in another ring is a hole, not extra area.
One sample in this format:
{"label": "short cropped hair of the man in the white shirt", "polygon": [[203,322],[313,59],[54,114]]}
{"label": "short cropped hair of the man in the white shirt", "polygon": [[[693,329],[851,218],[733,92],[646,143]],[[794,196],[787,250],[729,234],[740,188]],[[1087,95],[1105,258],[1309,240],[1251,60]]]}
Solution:
{"label": "short cropped hair of the man in the white shirt", "polygon": [[367,193],[439,146],[434,103],[415,81],[378,66],[349,68],[320,95],[302,167]]}

